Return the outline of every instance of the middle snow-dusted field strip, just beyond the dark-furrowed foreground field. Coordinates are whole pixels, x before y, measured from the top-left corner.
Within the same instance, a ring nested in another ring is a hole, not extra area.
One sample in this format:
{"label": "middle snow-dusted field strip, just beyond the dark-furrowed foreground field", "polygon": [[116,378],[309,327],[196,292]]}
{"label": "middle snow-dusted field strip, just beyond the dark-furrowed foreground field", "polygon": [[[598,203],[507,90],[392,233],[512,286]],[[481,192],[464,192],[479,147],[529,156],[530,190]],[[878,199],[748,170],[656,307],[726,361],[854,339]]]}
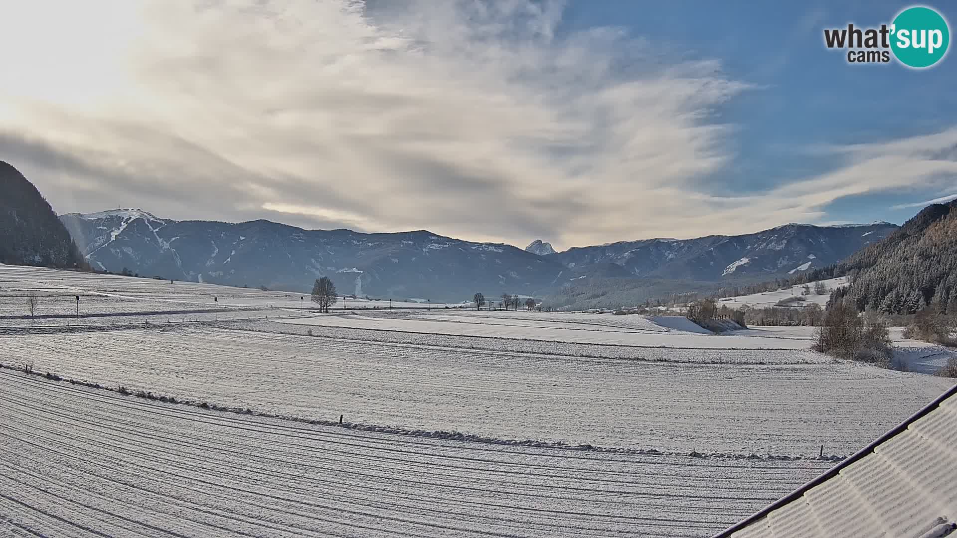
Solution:
{"label": "middle snow-dusted field strip, just beyond the dark-furrowed foreground field", "polygon": [[847,455],[949,387],[847,363],[675,364],[221,328],[0,337],[0,362],[25,361],[281,415],[681,453],[812,456],[824,444]]}

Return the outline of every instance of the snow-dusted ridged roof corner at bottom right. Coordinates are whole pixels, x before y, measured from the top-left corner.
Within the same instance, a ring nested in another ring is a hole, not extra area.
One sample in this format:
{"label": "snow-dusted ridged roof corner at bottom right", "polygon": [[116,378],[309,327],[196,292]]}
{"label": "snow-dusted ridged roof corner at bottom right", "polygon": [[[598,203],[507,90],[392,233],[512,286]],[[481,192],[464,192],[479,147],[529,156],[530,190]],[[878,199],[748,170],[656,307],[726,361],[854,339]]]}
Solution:
{"label": "snow-dusted ridged roof corner at bottom right", "polygon": [[715,538],[957,537],[957,386]]}

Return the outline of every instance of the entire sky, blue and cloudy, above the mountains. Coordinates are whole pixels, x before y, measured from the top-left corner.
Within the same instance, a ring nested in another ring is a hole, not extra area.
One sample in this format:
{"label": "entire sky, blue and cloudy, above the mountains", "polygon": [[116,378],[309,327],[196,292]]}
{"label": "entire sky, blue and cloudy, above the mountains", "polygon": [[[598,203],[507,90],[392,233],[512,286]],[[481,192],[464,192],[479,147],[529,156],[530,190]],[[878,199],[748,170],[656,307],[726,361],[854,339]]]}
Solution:
{"label": "entire sky, blue and cloudy, above the mountains", "polygon": [[57,213],[559,250],[901,223],[957,197],[957,59],[853,65],[823,30],[908,6],[17,2],[0,160]]}

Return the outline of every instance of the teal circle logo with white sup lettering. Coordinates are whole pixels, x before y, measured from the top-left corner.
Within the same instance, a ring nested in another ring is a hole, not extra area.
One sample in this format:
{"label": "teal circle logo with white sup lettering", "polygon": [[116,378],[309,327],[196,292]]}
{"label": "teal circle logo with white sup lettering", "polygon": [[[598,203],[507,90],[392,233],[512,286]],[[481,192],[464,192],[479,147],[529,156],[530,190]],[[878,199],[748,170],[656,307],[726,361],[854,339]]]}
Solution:
{"label": "teal circle logo with white sup lettering", "polygon": [[891,25],[891,50],[909,67],[934,65],[946,55],[949,44],[947,21],[930,8],[907,8]]}

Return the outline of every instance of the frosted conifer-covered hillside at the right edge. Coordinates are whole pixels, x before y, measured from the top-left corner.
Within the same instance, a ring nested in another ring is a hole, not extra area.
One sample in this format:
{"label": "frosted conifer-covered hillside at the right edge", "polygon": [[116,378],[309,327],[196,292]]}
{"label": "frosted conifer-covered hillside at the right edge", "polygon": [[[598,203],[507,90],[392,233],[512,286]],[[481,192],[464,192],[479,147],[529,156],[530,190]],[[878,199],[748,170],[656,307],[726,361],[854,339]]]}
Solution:
{"label": "frosted conifer-covered hillside at the right edge", "polygon": [[900,230],[835,265],[835,275],[853,275],[840,290],[865,308],[913,314],[933,305],[957,314],[957,200],[924,208]]}

